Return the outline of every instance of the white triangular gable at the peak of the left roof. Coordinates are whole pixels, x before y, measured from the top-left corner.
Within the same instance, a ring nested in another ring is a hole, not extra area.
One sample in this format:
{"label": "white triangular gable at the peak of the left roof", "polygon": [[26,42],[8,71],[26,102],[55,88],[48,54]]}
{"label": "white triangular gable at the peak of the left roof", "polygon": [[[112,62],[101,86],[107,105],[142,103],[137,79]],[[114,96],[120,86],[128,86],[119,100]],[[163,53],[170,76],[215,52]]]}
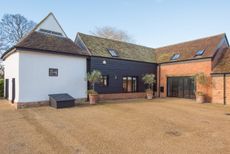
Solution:
{"label": "white triangular gable at the peak of the left roof", "polygon": [[63,37],[67,37],[65,35],[65,32],[62,30],[60,25],[58,24],[57,20],[53,16],[53,14],[50,14],[45,21],[43,21],[35,31],[39,31],[40,29],[45,29],[45,30],[51,30],[55,32],[59,32],[63,35]]}

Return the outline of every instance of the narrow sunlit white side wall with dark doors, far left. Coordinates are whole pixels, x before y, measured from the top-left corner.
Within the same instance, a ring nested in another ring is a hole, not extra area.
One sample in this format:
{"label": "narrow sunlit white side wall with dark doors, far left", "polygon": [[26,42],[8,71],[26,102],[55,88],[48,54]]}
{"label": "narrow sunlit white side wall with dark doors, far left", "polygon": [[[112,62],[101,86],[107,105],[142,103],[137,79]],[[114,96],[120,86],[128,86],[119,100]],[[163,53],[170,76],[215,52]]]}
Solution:
{"label": "narrow sunlit white side wall with dark doors, far left", "polygon": [[19,53],[15,52],[5,59],[4,79],[9,80],[8,98],[12,100],[12,79],[15,78],[15,102],[19,100]]}

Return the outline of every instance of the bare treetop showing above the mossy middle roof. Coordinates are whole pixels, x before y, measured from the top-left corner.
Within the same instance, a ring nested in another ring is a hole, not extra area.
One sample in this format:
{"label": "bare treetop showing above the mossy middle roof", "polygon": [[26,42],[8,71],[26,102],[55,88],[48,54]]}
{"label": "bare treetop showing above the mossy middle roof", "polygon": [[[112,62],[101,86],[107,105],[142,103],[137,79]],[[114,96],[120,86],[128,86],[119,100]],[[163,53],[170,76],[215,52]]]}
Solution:
{"label": "bare treetop showing above the mossy middle roof", "polygon": [[123,30],[119,30],[114,27],[105,26],[105,27],[96,27],[95,31],[91,32],[95,36],[124,41],[124,42],[133,42],[129,34]]}

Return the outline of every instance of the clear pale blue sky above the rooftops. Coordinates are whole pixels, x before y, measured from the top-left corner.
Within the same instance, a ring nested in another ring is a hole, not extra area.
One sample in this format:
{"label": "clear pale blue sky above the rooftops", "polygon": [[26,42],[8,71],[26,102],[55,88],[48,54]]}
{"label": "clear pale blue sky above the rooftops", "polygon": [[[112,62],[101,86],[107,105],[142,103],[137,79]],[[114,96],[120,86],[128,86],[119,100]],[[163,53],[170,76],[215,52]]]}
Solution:
{"label": "clear pale blue sky above the rooftops", "polygon": [[1,0],[0,17],[20,13],[39,22],[53,12],[67,35],[112,26],[137,44],[159,47],[227,33],[229,0]]}

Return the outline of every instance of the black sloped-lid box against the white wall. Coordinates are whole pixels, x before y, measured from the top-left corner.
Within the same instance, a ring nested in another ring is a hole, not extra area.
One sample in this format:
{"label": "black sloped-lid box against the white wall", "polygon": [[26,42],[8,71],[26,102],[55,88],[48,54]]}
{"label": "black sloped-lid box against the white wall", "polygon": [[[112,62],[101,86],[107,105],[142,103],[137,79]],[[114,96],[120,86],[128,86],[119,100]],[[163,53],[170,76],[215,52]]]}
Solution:
{"label": "black sloped-lid box against the white wall", "polygon": [[49,105],[55,108],[73,107],[75,105],[75,99],[69,94],[51,94],[49,98]]}

